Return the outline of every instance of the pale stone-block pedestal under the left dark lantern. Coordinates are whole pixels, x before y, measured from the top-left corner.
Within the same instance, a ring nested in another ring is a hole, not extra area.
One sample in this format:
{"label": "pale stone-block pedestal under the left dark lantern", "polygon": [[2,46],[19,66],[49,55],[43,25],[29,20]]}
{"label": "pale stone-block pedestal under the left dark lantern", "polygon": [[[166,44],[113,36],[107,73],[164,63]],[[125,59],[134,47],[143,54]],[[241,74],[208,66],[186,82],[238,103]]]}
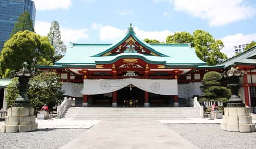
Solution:
{"label": "pale stone-block pedestal under the left dark lantern", "polygon": [[38,123],[35,122],[34,108],[12,107],[8,109],[5,124],[1,132],[15,133],[37,130]]}

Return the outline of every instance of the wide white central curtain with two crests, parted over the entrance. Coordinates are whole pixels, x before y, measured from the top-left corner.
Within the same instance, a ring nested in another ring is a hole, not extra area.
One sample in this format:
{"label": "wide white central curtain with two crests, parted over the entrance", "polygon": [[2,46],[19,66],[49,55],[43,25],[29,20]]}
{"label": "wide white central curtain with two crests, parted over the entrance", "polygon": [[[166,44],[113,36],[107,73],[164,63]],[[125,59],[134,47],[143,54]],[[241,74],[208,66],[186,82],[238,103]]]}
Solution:
{"label": "wide white central curtain with two crests, parted over the entrance", "polygon": [[160,95],[177,95],[177,79],[84,79],[82,94],[94,95],[117,91],[132,84],[144,91]]}

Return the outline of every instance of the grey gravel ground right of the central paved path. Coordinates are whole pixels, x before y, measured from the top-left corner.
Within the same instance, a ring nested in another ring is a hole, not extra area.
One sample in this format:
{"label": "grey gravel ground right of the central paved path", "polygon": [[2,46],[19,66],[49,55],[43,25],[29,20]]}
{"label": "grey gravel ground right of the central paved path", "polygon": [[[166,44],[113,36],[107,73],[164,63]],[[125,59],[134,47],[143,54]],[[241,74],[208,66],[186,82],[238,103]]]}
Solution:
{"label": "grey gravel ground right of the central paved path", "polygon": [[220,130],[219,124],[170,124],[170,129],[200,148],[256,148],[256,132]]}

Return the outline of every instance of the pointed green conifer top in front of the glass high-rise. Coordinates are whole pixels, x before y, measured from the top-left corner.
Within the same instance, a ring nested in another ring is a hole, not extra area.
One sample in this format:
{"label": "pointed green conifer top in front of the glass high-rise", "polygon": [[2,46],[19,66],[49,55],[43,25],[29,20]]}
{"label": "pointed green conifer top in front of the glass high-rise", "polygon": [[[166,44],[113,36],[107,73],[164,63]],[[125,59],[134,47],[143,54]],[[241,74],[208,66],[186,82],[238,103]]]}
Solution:
{"label": "pointed green conifer top in front of the glass high-rise", "polygon": [[10,35],[10,38],[18,31],[29,30],[34,32],[33,20],[30,18],[30,14],[27,10],[24,11],[19,17],[17,22],[14,24],[14,29]]}

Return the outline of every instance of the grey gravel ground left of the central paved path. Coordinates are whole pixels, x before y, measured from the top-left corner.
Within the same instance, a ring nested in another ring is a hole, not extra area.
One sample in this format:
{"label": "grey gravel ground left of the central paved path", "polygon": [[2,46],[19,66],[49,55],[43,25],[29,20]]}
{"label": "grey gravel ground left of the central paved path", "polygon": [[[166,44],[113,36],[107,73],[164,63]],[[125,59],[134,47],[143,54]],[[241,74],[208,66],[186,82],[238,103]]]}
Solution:
{"label": "grey gravel ground left of the central paved path", "polygon": [[59,148],[87,129],[38,129],[25,133],[0,133],[0,148]]}

